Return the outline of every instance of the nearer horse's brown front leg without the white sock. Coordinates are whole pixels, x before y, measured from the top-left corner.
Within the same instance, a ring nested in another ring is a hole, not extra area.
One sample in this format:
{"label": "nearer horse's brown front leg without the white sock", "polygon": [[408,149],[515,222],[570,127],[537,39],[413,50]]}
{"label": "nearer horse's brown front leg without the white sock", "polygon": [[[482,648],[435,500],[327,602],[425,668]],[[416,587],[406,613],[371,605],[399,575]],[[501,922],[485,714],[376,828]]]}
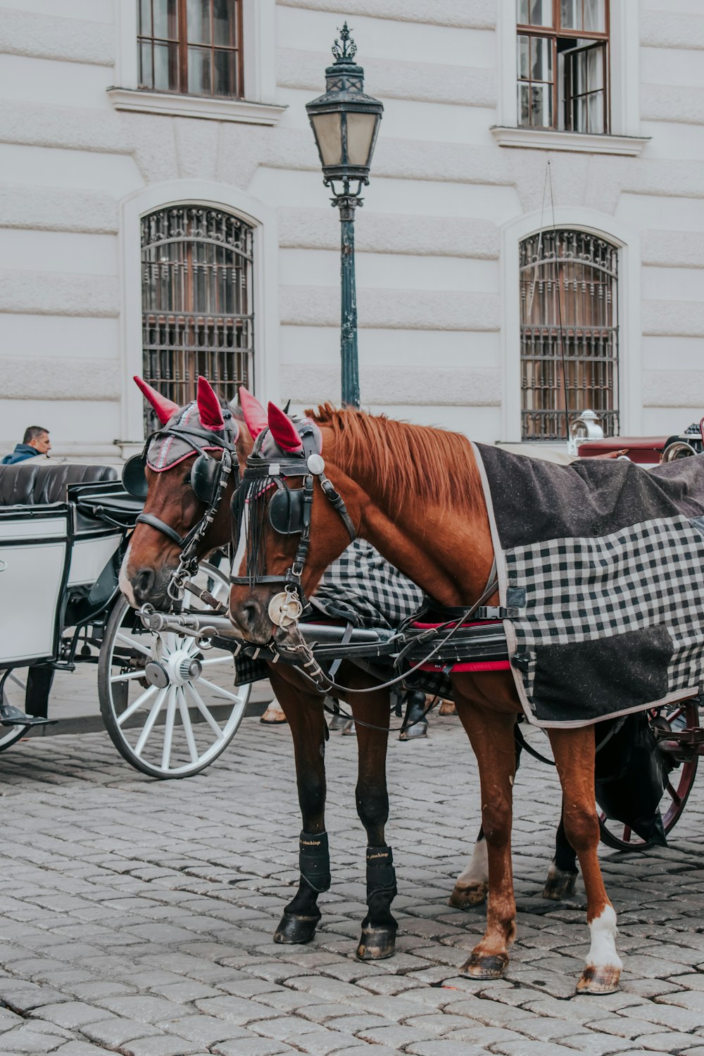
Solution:
{"label": "nearer horse's brown front leg without the white sock", "polygon": [[456,696],[457,713],[479,766],[481,826],[487,842],[489,899],[487,930],[462,965],[473,979],[497,979],[509,962],[516,934],[511,868],[512,787],[516,767],[515,715],[490,711]]}

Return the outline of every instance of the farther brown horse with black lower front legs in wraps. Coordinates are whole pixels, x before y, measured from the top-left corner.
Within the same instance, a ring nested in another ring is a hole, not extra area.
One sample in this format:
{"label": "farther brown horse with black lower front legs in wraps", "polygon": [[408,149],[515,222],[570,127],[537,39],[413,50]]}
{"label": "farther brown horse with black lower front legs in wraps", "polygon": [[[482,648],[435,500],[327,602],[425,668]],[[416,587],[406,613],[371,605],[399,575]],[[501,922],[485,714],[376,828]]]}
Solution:
{"label": "farther brown horse with black lower front legs in wraps", "polygon": [[[172,447],[169,453],[173,461],[169,461],[167,455],[163,465],[159,465],[158,455],[159,447],[163,449],[169,441],[170,435],[172,440],[177,439],[169,433],[169,422],[182,418],[188,409],[178,408],[175,403],[165,400],[144,382],[140,382],[140,388],[154,407],[161,426],[165,427],[161,439],[152,441],[156,451],[153,457],[150,454],[150,460],[157,466],[157,469],[152,469],[149,461],[146,467],[148,494],[145,513],[149,518],[155,518],[157,523],[161,522],[172,527],[179,536],[185,538],[197,525],[205,512],[204,503],[193,492],[191,480],[192,465],[197,452],[189,448],[174,451]],[[214,394],[211,391],[209,393],[207,382],[199,383],[198,396],[199,402],[191,404],[193,409],[191,421],[202,428],[207,426],[206,431],[210,431],[211,434],[212,426],[216,427],[214,435],[211,435],[209,446],[212,450],[209,453],[213,459],[218,459],[221,452],[217,450],[217,440],[223,427],[217,417],[216,403],[213,403]],[[244,389],[241,390],[241,399],[248,410],[248,428],[239,429],[235,447],[239,463],[244,467],[252,448],[250,430],[254,435],[259,434],[266,422],[266,413]],[[244,423],[241,416],[237,423],[239,426]],[[180,455],[185,457],[179,457]],[[230,541],[230,505],[233,489],[234,480],[230,477],[215,516],[197,544],[197,558],[205,558],[210,551],[227,545]],[[135,607],[146,602],[156,608],[170,607],[168,585],[178,567],[179,557],[179,546],[159,530],[157,524],[141,522],[137,525],[120,572],[122,591]],[[378,679],[347,662],[340,667],[339,677],[353,689],[369,689],[378,685]],[[324,752],[327,732],[323,711],[324,697],[311,689],[294,667],[269,665],[269,679],[291,730],[303,824],[301,883],[296,897],[284,911],[274,938],[278,942],[308,942],[321,916],[317,905],[318,894],[329,883],[325,835]],[[377,690],[362,696],[350,695],[348,702],[355,717],[362,723],[381,728],[375,730],[358,724],[357,729],[359,751],[357,810],[366,830],[368,846],[376,849],[386,846],[384,826],[388,816],[385,773],[387,736],[383,731],[389,721],[389,694],[387,690]],[[375,854],[376,851],[373,850],[370,853]],[[374,863],[379,860],[372,857],[370,861],[373,868],[368,878],[376,884]],[[322,875],[316,874],[316,868]],[[392,876],[391,868],[387,869],[386,876]],[[555,861],[550,867],[544,892],[546,898],[560,899],[571,893],[575,878],[574,851],[565,837],[564,826],[560,823],[556,837]],[[457,879],[450,903],[458,908],[477,905],[484,900],[487,889],[487,845],[480,832],[472,859]],[[386,957],[394,950],[396,922],[389,911],[394,893],[395,885],[392,884],[386,885],[386,888],[379,893],[374,887],[370,888],[369,913],[364,922],[362,941],[358,948],[358,955],[364,959]],[[374,941],[369,941],[370,939]]]}

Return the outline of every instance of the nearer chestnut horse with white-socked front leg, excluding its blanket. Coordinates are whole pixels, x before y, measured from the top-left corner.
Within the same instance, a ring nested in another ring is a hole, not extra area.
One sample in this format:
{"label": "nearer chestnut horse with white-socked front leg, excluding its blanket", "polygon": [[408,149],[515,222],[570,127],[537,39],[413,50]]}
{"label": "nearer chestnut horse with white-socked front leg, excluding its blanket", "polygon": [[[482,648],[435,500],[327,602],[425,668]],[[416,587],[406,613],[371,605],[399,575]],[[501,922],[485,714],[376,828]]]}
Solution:
{"label": "nearer chestnut horse with white-socked front leg, excluding its blanket", "polygon": [[[329,406],[302,428],[269,404],[268,423],[269,442],[259,461],[250,459],[254,490],[230,596],[231,619],[244,638],[264,644],[273,637],[292,649],[300,645],[297,593],[315,590],[347,546],[350,528],[443,606],[470,606],[486,595],[494,552],[478,467],[465,437]],[[279,491],[255,490],[261,471],[269,479],[278,474],[280,487],[299,488],[302,479],[313,486],[307,552],[303,536],[262,533]],[[341,514],[345,508],[347,521]],[[491,979],[502,974],[515,936],[511,825],[514,725],[521,706],[508,672],[454,674],[453,687],[478,761],[489,857],[487,929],[462,970]],[[617,988],[622,963],[615,912],[596,853],[594,731],[552,729],[548,736],[563,787],[565,830],[587,891],[591,947],[577,988],[609,993]]]}

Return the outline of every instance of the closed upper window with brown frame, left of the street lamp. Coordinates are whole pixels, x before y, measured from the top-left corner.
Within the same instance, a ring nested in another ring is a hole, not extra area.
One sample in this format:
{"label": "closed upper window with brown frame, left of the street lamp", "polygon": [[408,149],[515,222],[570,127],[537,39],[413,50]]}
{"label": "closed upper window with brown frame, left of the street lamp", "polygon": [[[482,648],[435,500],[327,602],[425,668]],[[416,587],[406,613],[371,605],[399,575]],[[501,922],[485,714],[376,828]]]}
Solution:
{"label": "closed upper window with brown frame, left of the street lamp", "polygon": [[136,0],[139,88],[242,98],[242,0]]}

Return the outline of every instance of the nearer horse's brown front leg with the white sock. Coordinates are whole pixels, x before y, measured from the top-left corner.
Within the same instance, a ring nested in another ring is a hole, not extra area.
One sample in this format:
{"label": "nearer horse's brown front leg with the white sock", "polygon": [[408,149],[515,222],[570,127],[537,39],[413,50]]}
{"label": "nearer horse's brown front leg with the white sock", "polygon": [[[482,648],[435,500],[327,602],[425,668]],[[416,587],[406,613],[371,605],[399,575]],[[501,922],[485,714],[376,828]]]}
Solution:
{"label": "nearer horse's brown front leg with the white sock", "polygon": [[563,786],[565,834],[577,852],[587,891],[591,946],[577,982],[583,994],[611,994],[619,988],[623,964],[616,953],[616,914],[602,879],[596,849],[600,829],[594,807],[594,731],[549,730],[548,736]]}

